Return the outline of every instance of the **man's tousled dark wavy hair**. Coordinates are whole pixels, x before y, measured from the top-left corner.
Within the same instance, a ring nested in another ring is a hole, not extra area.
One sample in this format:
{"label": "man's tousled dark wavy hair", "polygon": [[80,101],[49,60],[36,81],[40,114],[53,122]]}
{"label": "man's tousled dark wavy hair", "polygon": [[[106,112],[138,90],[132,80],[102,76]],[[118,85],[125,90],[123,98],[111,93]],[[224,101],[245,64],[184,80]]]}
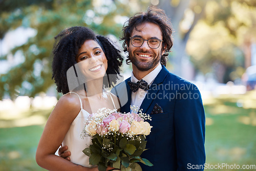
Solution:
{"label": "man's tousled dark wavy hair", "polygon": [[[132,34],[133,29],[137,30],[137,26],[144,24],[144,23],[154,23],[157,24],[163,36],[162,41],[162,51],[165,51],[164,54],[161,56],[161,65],[166,66],[166,60],[168,59],[168,52],[170,52],[170,48],[173,46],[173,28],[172,24],[170,23],[170,19],[165,14],[164,10],[156,8],[154,6],[148,7],[147,12],[137,13],[133,17],[131,17],[126,22],[126,26],[124,25],[122,31],[123,35],[120,40],[123,41],[123,48],[124,52],[127,52],[127,46],[130,44],[130,37]],[[127,45],[128,44],[128,45]],[[166,48],[165,48],[166,46]],[[129,56],[127,56],[126,63],[129,64],[131,62]]]}

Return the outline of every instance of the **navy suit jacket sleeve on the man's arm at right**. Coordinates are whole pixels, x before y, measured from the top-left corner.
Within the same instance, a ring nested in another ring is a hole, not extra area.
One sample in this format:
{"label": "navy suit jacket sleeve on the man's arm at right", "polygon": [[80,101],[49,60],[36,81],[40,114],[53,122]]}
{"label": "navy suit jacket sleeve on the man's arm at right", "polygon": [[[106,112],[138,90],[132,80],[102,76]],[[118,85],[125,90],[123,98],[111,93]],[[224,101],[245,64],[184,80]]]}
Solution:
{"label": "navy suit jacket sleeve on the man's arm at right", "polygon": [[194,84],[187,84],[176,93],[174,127],[177,171],[203,170],[202,166],[205,163],[205,114],[201,94]]}

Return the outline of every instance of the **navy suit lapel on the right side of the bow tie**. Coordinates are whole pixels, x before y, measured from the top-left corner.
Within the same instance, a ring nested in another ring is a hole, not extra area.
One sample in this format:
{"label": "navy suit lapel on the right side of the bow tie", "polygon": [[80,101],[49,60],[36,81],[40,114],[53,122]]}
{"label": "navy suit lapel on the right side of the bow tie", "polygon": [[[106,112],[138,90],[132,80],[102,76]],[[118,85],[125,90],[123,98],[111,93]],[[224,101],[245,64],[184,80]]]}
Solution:
{"label": "navy suit lapel on the right side of the bow tie", "polygon": [[[142,111],[143,113],[148,113],[148,108],[150,107],[153,100],[157,97],[157,93],[159,91],[159,84],[164,81],[164,78],[168,73],[169,71],[164,66],[162,66],[162,70],[158,73],[157,77],[151,84],[150,90],[148,90],[144,100],[140,105],[140,109],[143,109]],[[131,98],[130,98],[130,102],[131,102]]]}

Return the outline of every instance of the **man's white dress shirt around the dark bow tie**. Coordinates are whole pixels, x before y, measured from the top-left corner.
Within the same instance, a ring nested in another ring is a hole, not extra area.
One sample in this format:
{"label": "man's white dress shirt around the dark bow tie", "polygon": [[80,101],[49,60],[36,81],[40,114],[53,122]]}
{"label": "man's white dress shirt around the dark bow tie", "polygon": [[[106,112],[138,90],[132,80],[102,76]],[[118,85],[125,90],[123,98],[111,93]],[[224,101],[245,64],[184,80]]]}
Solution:
{"label": "man's white dress shirt around the dark bow tie", "polygon": [[[148,86],[151,86],[151,84],[153,83],[153,81],[155,80],[155,78],[157,77],[158,73],[161,71],[162,66],[159,63],[158,66],[151,71],[150,73],[148,73],[146,76],[144,76],[142,79],[145,80],[148,83]],[[131,76],[131,81],[132,82],[137,82],[139,81],[137,78],[135,78],[133,72],[132,72],[132,76]],[[144,91],[142,89],[138,89],[138,91],[136,92],[132,92],[132,99],[131,99],[131,105],[135,105],[140,107],[143,99],[146,96],[147,91]],[[132,112],[132,111],[131,111]],[[143,111],[142,111],[143,112]]]}

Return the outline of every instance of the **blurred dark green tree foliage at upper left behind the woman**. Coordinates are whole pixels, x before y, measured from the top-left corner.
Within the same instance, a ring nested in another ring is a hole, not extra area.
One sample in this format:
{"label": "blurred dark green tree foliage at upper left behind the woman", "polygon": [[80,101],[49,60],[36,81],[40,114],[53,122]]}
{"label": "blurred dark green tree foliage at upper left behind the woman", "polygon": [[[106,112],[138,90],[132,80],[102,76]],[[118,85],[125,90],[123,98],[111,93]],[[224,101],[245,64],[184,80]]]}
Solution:
{"label": "blurred dark green tree foliage at upper left behind the woman", "polygon": [[6,60],[8,56],[19,51],[25,58],[23,63],[1,75],[0,98],[4,95],[12,99],[17,95],[33,97],[53,86],[51,51],[54,36],[61,30],[72,26],[86,26],[98,34],[113,34],[120,37],[123,23],[118,18],[131,16],[142,10],[134,8],[140,7],[141,4],[148,5],[142,2],[126,4],[122,1],[102,3],[92,0],[0,1],[0,38],[18,27],[32,28],[37,32],[26,44],[12,49],[7,55],[0,56],[0,60]]}

